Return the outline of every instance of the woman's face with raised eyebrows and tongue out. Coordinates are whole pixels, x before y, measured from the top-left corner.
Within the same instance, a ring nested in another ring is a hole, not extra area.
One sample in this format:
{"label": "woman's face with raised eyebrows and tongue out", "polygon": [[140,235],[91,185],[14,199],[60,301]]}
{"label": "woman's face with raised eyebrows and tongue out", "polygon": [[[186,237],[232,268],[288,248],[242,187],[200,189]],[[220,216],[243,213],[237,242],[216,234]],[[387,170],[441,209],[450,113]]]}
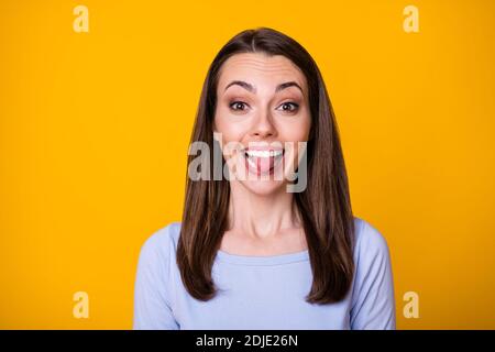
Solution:
{"label": "woman's face with raised eyebrows and tongue out", "polygon": [[310,127],[306,77],[287,57],[243,53],[223,63],[215,132],[231,182],[235,175],[258,195],[280,190],[297,169]]}

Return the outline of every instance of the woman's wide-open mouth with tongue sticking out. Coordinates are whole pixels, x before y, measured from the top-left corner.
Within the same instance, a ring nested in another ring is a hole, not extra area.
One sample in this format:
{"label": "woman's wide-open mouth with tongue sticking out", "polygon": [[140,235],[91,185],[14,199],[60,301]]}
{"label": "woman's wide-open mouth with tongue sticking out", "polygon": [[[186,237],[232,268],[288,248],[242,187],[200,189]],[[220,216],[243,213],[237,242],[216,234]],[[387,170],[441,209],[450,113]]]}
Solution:
{"label": "woman's wide-open mouth with tongue sticking out", "polygon": [[256,175],[272,175],[284,158],[284,148],[245,148],[243,156],[246,169]]}

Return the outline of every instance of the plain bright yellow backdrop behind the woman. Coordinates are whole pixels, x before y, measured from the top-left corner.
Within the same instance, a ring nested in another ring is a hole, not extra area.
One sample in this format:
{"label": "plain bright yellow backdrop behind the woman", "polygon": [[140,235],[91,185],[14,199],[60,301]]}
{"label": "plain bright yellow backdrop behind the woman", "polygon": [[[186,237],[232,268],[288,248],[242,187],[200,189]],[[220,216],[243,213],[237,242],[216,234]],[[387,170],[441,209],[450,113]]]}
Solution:
{"label": "plain bright yellow backdrop behind the woman", "polygon": [[0,328],[132,327],[140,248],[180,220],[207,68],[264,25],[322,70],[355,215],[392,252],[397,328],[494,329],[494,21],[491,0],[1,1]]}

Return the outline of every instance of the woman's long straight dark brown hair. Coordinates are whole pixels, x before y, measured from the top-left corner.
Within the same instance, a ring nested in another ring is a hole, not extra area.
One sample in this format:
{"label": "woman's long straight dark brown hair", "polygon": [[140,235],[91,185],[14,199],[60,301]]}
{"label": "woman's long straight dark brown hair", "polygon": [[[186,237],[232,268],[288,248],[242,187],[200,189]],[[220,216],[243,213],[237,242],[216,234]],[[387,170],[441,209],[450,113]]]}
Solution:
{"label": "woman's long straight dark brown hair", "polygon": [[[336,117],[320,70],[309,53],[273,29],[246,30],[232,37],[209,67],[190,142],[206,142],[210,151],[218,143],[213,139],[213,119],[219,72],[229,57],[240,53],[283,55],[306,76],[312,120],[307,144],[307,187],[294,194],[314,276],[306,300],[340,301],[349,292],[354,274],[354,219]],[[189,155],[188,165],[193,160]],[[213,153],[210,162],[213,165]],[[227,230],[230,197],[229,180],[224,177],[215,180],[210,176],[209,180],[187,177],[176,255],[187,292],[204,301],[217,293],[211,268]]]}

